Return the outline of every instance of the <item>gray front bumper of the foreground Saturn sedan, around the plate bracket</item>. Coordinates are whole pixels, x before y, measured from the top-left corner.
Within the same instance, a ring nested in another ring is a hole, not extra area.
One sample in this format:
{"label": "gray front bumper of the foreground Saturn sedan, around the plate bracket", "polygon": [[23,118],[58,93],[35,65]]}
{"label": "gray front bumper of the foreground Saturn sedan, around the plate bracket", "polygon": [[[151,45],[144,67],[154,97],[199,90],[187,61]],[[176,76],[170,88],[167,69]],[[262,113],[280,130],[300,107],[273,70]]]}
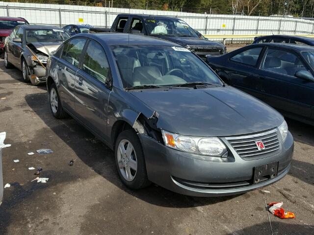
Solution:
{"label": "gray front bumper of the foreground Saturn sedan, around the plate bracket", "polygon": [[[265,187],[282,179],[290,169],[293,138],[290,133],[281,151],[271,157],[243,160],[235,151],[228,158],[197,160],[193,154],[178,151],[139,135],[150,181],[169,190],[190,196],[227,196]],[[253,184],[256,166],[278,162],[276,177]]]}

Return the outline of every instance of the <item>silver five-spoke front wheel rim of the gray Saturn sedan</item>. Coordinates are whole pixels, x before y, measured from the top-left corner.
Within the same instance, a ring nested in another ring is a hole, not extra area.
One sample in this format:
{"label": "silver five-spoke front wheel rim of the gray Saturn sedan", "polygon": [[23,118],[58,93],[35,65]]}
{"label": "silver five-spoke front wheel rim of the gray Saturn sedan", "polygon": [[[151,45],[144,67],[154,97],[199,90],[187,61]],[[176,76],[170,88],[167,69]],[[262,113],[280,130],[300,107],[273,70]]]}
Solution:
{"label": "silver five-spoke front wheel rim of the gray Saturn sedan", "polygon": [[120,141],[117,149],[117,160],[123,178],[127,181],[132,181],[137,172],[137,159],[134,147],[130,141]]}

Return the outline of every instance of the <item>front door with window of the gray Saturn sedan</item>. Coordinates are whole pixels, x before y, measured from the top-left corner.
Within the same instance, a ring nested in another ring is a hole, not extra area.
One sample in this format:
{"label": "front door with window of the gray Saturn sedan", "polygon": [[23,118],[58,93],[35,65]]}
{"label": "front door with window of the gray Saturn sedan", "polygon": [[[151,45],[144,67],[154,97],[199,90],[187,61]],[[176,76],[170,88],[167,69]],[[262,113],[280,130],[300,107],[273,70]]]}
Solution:
{"label": "front door with window of the gray Saturn sedan", "polygon": [[108,140],[107,105],[111,88],[106,86],[110,69],[104,48],[90,40],[76,74],[76,113],[87,126]]}

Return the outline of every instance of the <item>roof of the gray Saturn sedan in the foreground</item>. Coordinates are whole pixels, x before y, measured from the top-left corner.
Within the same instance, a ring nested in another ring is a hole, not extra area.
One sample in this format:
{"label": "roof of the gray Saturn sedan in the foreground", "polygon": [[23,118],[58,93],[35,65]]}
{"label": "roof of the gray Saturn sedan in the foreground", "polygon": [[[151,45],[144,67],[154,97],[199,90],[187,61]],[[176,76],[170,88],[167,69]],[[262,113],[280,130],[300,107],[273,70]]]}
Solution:
{"label": "roof of the gray Saturn sedan in the foreground", "polygon": [[170,47],[182,47],[179,44],[144,35],[136,35],[129,33],[90,33],[90,34],[76,34],[74,37],[87,37],[96,41],[101,41],[108,46],[116,45],[147,45],[147,46],[170,46]]}

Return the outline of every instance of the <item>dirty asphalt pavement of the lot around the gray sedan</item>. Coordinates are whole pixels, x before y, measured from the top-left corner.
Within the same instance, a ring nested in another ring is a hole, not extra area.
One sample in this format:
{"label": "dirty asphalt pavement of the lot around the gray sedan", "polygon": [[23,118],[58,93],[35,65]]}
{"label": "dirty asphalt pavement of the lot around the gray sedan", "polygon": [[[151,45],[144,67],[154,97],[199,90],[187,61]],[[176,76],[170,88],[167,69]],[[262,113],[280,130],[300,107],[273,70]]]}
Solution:
{"label": "dirty asphalt pavement of the lot around the gray sedan", "polygon": [[[314,127],[287,121],[294,159],[274,185],[219,198],[156,185],[132,191],[118,177],[113,152],[74,119],[53,118],[45,85],[24,83],[21,72],[5,69],[1,59],[0,132],[12,146],[2,154],[3,183],[11,187],[4,188],[0,235],[271,235],[265,200],[283,202],[296,216],[268,213],[274,235],[312,235]],[[36,153],[42,148],[53,153]],[[41,167],[47,183],[32,181],[37,176],[28,167]]]}

